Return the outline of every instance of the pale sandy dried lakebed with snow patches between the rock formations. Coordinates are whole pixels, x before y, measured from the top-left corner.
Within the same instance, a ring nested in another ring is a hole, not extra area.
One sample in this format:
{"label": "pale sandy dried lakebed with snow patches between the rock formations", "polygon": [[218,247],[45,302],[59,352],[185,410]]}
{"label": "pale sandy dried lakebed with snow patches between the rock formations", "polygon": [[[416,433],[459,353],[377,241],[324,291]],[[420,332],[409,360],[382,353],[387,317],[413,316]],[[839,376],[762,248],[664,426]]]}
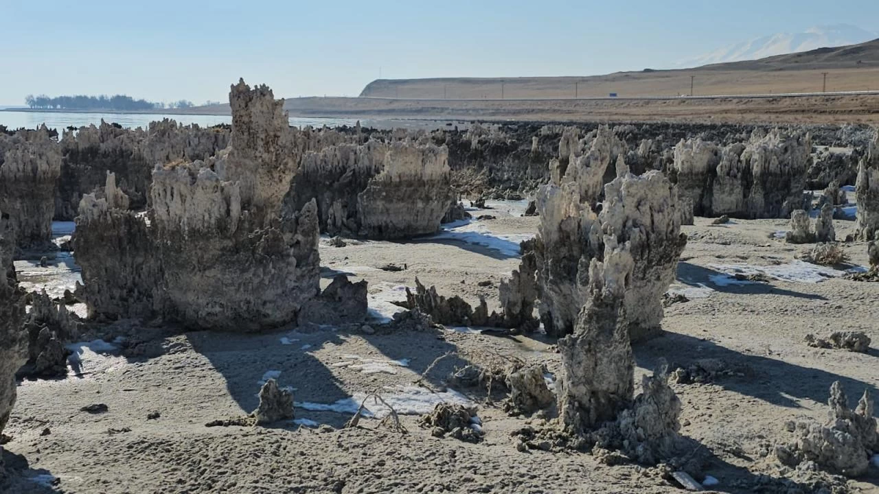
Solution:
{"label": "pale sandy dried lakebed with snow patches between the rock formations", "polygon": [[[312,325],[259,335],[173,335],[157,323],[121,321],[111,326],[107,341],[87,337],[69,345],[74,353],[66,379],[23,381],[18,388],[4,448],[7,456],[28,462],[30,480],[20,491],[672,490],[635,465],[607,467],[589,454],[519,453],[511,433],[539,419],[509,417],[483,394],[444,384],[455,368],[495,353],[543,362],[551,381],[560,370],[554,339],[539,333],[498,338],[476,328],[382,328],[382,318],[396,311],[391,302],[405,298],[400,288],[414,286],[416,277],[470,303],[485,296],[497,309],[498,282],[519,263],[506,243],[533,235],[539,218],[497,207],[474,213],[496,219],[447,226],[437,236],[410,242],[340,248],[322,242],[322,287],[334,272],[368,280],[371,331]],[[663,336],[634,346],[636,382],[662,360],[681,367],[712,360],[728,370],[708,383],[672,385],[683,403],[681,433],[715,455],[704,469],[706,489],[752,492],[759,474],[779,476],[766,453],[787,439],[782,425],[825,418],[833,381],[848,396],[879,390],[875,349],[840,352],[803,342],[806,334],[838,330],[864,331],[879,340],[879,283],[846,280],[843,270],[796,260],[808,246],[771,237],[788,228],[786,220],[695,222],[682,228],[690,240],[672,285],[690,301],[665,308]],[[854,232],[854,222],[835,226],[840,237]],[[867,264],[864,243],[843,248],[853,267]],[[405,269],[381,269],[389,264]],[[762,272],[766,281],[737,280],[737,272]],[[67,283],[54,276],[42,282],[56,288]],[[146,350],[126,356],[131,342]],[[432,366],[448,352],[454,355]],[[254,410],[260,382],[269,378],[293,389],[294,419],[271,428],[205,426]],[[388,410],[370,400],[373,417],[360,419],[363,428],[341,429],[374,391],[401,414],[408,434],[374,430]],[[418,414],[439,400],[475,403],[474,425],[485,433],[483,442],[438,439],[420,428]],[[81,411],[91,404],[105,404],[106,411]],[[155,412],[157,418],[148,418]],[[848,486],[870,491],[877,483],[874,467]]]}

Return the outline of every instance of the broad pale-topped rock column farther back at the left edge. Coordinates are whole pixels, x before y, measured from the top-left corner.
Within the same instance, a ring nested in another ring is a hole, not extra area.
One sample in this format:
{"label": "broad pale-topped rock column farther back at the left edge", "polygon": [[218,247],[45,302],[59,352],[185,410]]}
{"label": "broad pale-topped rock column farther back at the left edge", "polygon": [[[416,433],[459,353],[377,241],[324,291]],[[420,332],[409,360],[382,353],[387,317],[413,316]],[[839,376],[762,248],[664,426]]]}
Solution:
{"label": "broad pale-topped rock column farther back at the left edge", "polygon": [[9,214],[19,248],[51,240],[60,173],[61,150],[45,125],[11,136],[0,133],[0,210]]}

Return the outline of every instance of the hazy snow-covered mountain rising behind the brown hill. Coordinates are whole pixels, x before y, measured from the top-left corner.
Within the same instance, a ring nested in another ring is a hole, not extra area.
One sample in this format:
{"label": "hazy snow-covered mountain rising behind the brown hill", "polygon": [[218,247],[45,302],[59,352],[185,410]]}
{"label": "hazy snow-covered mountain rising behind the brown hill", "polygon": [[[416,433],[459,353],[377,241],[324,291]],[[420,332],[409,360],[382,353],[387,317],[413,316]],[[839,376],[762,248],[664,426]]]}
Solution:
{"label": "hazy snow-covered mountain rising behind the brown hill", "polygon": [[679,62],[677,65],[683,68],[699,67],[709,63],[757,60],[766,56],[805,52],[821,47],[854,45],[876,38],[879,38],[879,34],[861,29],[856,25],[820,25],[811,27],[804,33],[770,34],[742,41],[709,54],[702,54],[690,60]]}

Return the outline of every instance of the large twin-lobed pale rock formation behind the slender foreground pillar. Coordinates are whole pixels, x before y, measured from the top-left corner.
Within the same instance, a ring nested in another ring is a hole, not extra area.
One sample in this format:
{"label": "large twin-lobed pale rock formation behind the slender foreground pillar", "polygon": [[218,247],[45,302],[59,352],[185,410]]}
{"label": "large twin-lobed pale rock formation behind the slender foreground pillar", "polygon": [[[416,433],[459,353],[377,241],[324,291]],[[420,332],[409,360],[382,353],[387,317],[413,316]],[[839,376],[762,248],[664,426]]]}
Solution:
{"label": "large twin-lobed pale rock formation behind the slender foreground pillar", "polygon": [[[659,331],[662,295],[674,279],[686,245],[677,194],[662,173],[623,171],[605,186],[598,214],[581,200],[576,183],[546,185],[538,193],[541,224],[535,241],[540,314],[548,334],[573,331],[588,298],[592,260],[620,271],[633,340]],[[520,269],[521,271],[521,269]]]}

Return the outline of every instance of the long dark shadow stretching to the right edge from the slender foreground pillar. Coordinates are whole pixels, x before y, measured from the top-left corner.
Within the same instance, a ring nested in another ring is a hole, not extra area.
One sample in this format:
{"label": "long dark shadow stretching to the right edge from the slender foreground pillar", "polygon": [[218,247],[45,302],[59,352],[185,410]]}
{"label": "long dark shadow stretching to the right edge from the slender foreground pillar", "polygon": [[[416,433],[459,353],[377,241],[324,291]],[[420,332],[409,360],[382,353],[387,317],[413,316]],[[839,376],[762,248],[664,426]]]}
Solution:
{"label": "long dark shadow stretching to the right edge from the slender foreground pillar", "polygon": [[874,395],[879,392],[869,382],[770,357],[735,352],[711,341],[679,333],[665,332],[659,338],[635,345],[633,351],[637,365],[643,368],[657,368],[663,360],[672,367],[686,367],[701,359],[723,360],[728,367],[743,370],[744,375],[724,376],[714,381],[716,386],[784,407],[799,408],[795,398],[825,403],[833,381],[842,384],[847,396],[861,396],[865,389]]}

